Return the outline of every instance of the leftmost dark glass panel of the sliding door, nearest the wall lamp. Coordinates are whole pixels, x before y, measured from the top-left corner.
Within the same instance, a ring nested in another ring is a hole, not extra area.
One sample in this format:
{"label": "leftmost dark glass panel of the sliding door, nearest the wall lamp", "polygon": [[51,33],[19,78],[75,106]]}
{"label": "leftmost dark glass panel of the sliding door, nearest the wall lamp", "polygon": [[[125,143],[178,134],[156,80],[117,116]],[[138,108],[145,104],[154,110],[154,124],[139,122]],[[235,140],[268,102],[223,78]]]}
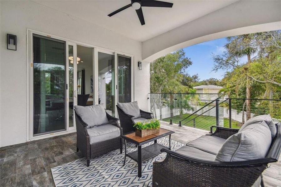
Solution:
{"label": "leftmost dark glass panel of the sliding door, nearest the wall lamp", "polygon": [[66,130],[65,41],[33,34],[33,135]]}

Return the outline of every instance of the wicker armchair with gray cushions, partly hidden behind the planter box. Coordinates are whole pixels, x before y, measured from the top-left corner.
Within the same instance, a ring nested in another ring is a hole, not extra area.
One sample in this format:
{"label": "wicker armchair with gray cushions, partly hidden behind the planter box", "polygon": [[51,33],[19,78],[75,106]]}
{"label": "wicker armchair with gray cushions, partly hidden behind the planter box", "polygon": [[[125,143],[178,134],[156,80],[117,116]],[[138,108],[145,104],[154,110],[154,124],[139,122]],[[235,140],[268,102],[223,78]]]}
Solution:
{"label": "wicker armchair with gray cushions, partly hidden behind the planter box", "polygon": [[135,131],[133,125],[135,122],[143,122],[148,119],[152,119],[152,113],[139,109],[138,102],[130,103],[117,103],[116,105],[120,125],[123,128],[123,134],[128,134]]}

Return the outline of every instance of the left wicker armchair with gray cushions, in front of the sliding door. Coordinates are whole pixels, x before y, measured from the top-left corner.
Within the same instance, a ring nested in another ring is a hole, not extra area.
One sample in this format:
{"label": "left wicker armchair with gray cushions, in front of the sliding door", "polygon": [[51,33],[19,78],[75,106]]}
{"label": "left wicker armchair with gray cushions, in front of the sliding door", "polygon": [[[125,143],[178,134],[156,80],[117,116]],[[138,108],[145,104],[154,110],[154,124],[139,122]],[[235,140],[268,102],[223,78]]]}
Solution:
{"label": "left wicker armchair with gray cushions, in front of the sliding door", "polygon": [[[123,130],[118,123],[118,118],[112,117],[105,112],[103,104],[86,107],[74,106],[74,108],[77,152],[80,150],[86,157],[88,167],[90,166],[90,159],[96,156],[116,149],[120,149],[122,154],[123,143],[120,136],[123,134]],[[89,112],[89,109],[90,113],[85,114],[85,110]],[[102,116],[104,117],[104,122],[100,121],[100,118],[103,118]],[[87,117],[89,118],[87,119]],[[91,119],[99,120],[101,124],[96,123],[90,126]]]}

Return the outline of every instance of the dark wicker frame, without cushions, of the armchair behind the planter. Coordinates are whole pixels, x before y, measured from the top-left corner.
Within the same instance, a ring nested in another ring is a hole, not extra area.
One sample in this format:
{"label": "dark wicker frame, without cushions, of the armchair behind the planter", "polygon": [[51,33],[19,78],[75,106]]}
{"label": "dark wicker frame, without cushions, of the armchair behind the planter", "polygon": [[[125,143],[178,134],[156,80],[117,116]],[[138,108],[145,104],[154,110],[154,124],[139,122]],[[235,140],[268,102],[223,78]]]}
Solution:
{"label": "dark wicker frame, without cushions, of the armchair behind the planter", "polygon": [[[135,124],[136,119],[133,119],[134,116],[125,113],[121,108],[116,105],[119,119],[120,119],[120,125],[123,128],[123,134],[128,134],[129,132],[134,132],[135,127],[133,125]],[[139,110],[141,114],[141,118],[145,119],[152,119],[152,113],[146,112],[143,110]]]}

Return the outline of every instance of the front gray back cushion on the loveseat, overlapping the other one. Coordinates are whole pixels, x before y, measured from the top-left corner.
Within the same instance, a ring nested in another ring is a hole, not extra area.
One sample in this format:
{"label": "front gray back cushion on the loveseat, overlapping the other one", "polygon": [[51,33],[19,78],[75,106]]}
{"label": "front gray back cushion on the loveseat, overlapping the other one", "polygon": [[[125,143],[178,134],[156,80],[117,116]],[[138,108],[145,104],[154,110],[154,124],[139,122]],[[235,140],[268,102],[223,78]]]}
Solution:
{"label": "front gray back cushion on the loveseat, overlapping the other one", "polygon": [[220,148],[216,161],[245,161],[264,158],[271,144],[266,122],[257,122],[229,137]]}

